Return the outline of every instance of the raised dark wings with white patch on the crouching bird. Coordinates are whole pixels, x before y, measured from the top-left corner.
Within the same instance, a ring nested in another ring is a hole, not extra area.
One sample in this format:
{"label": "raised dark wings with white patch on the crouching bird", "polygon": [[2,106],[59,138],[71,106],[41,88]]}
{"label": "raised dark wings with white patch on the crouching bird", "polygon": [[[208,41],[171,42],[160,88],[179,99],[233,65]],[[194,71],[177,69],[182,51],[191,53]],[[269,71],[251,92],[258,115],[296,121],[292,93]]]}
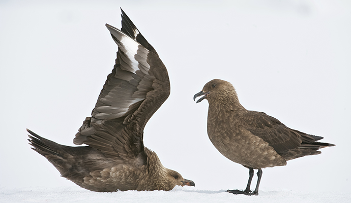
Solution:
{"label": "raised dark wings with white patch on the crouching bird", "polygon": [[[121,9],[122,10],[122,9]],[[106,24],[118,45],[91,117],[78,130],[74,144],[86,144],[107,156],[143,164],[143,129],[170,92],[168,73],[155,49],[122,11],[122,30]]]}

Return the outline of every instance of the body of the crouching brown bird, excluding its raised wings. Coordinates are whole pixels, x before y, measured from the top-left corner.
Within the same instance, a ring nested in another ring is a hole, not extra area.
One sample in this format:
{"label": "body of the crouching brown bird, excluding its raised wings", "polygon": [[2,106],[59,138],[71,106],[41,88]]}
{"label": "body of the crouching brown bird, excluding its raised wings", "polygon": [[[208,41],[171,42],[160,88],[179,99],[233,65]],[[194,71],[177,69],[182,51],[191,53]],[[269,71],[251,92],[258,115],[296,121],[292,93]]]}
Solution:
{"label": "body of the crouching brown bird, excluding its raised wings", "polygon": [[[157,154],[144,148],[147,163],[131,160],[126,162],[114,157],[107,157],[100,150],[85,147],[60,145],[36,133],[32,134],[31,144],[35,150],[46,157],[61,173],[82,188],[97,192],[117,190],[171,190],[175,186],[169,180],[179,176],[175,171],[165,168]],[[169,176],[169,177],[168,177]],[[175,182],[175,181],[174,181]]]}

